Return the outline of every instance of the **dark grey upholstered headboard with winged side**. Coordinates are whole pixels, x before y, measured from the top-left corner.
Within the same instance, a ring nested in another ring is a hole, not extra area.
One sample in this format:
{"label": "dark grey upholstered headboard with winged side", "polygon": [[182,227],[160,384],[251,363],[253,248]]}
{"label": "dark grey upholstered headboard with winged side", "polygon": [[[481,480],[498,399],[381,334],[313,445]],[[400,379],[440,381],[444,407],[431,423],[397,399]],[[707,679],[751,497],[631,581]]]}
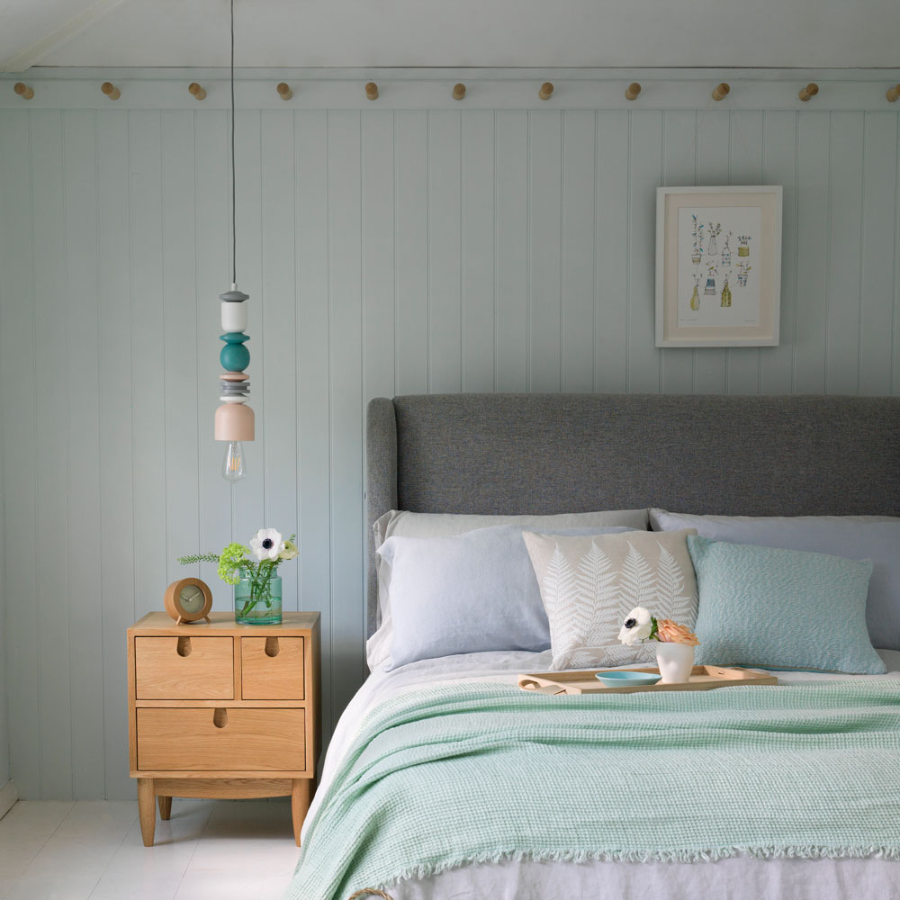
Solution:
{"label": "dark grey upholstered headboard with winged side", "polygon": [[389,509],[900,516],[896,397],[379,398],[366,446],[367,635],[372,524]]}

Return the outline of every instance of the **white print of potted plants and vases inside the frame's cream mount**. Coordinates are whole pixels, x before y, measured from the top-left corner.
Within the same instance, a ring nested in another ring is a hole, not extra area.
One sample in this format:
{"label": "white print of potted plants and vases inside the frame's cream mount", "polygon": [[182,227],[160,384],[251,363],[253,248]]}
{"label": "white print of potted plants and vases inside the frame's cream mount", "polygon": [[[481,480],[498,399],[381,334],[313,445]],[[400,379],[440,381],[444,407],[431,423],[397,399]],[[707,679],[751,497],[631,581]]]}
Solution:
{"label": "white print of potted plants and vases inside the frame's cream mount", "polygon": [[759,206],[681,207],[678,211],[678,325],[760,324]]}

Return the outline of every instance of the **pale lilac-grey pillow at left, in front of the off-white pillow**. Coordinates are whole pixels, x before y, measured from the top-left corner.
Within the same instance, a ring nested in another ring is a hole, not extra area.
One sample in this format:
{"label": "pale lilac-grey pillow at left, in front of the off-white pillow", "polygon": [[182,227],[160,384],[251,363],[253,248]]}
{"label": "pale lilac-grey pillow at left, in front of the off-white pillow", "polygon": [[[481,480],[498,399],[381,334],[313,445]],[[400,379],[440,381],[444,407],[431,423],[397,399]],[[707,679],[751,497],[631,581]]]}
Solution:
{"label": "pale lilac-grey pillow at left, in front of the off-white pillow", "polygon": [[[481,528],[450,537],[389,537],[393,669],[417,660],[489,650],[546,650],[550,628],[522,532]],[[567,529],[612,534],[628,527]]]}

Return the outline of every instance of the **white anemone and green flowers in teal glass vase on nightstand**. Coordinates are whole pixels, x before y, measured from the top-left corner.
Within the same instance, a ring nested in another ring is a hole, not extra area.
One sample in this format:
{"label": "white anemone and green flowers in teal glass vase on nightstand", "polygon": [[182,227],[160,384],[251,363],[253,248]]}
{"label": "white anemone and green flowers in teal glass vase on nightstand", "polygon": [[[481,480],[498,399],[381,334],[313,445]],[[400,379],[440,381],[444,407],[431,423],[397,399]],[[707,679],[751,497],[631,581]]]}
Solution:
{"label": "white anemone and green flowers in teal glass vase on nightstand", "polygon": [[260,528],[248,547],[229,544],[220,554],[179,556],[178,562],[218,563],[220,579],[234,586],[235,619],[245,625],[278,625],[282,620],[278,566],[300,553],[294,543],[296,537],[284,540],[275,528]]}

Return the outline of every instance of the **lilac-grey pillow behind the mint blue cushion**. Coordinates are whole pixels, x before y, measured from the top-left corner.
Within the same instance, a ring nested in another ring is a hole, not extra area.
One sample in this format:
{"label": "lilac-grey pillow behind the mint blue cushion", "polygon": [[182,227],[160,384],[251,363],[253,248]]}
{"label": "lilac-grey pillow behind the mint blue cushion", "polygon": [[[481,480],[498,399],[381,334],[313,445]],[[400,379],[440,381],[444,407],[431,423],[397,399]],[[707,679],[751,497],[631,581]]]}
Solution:
{"label": "lilac-grey pillow behind the mint blue cushion", "polygon": [[[691,516],[651,509],[654,531],[696,528],[729,544],[803,550],[874,563],[866,604],[869,638],[900,650],[900,518],[885,516]],[[702,606],[701,599],[701,606]]]}

